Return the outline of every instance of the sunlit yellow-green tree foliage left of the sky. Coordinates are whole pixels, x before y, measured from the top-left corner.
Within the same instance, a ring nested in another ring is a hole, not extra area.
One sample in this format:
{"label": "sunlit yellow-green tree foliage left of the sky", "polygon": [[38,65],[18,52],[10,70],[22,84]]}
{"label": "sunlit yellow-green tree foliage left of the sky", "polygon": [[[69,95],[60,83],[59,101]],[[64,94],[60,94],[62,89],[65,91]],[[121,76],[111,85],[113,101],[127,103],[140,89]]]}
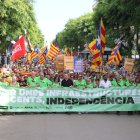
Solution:
{"label": "sunlit yellow-green tree foliage left of the sky", "polygon": [[1,47],[6,45],[6,36],[11,40],[27,30],[32,44],[42,47],[44,37],[36,23],[32,0],[0,0],[0,39]]}

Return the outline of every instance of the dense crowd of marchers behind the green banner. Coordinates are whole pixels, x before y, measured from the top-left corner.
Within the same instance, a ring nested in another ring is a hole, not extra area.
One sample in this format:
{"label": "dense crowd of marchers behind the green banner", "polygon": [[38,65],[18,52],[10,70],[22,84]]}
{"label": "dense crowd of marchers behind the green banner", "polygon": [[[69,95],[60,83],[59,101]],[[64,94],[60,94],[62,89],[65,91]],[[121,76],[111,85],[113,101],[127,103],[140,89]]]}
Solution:
{"label": "dense crowd of marchers behind the green banner", "polygon": [[105,65],[91,70],[88,63],[81,73],[73,71],[57,71],[55,64],[48,61],[45,65],[28,64],[18,61],[3,65],[0,69],[0,86],[40,87],[40,88],[109,88],[140,87],[140,68],[127,72],[123,67]]}

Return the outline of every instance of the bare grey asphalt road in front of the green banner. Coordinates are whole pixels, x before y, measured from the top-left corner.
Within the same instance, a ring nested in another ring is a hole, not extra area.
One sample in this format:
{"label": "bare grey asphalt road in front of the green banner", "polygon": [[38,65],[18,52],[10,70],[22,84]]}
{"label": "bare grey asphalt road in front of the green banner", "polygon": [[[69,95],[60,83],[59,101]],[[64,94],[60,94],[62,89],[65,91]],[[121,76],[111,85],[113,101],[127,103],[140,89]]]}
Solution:
{"label": "bare grey asphalt road in front of the green banner", "polygon": [[139,140],[140,115],[0,116],[0,140]]}

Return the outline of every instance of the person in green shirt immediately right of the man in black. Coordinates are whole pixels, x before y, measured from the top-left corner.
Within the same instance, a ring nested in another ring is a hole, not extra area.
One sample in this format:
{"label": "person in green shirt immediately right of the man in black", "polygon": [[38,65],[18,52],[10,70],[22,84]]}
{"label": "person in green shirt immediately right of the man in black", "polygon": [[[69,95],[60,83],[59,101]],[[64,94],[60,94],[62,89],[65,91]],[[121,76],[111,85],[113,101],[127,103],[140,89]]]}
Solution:
{"label": "person in green shirt immediately right of the man in black", "polygon": [[78,87],[78,88],[85,88],[86,87],[86,81],[85,81],[85,79],[83,79],[81,74],[79,74],[78,80],[76,80],[74,82],[74,86]]}

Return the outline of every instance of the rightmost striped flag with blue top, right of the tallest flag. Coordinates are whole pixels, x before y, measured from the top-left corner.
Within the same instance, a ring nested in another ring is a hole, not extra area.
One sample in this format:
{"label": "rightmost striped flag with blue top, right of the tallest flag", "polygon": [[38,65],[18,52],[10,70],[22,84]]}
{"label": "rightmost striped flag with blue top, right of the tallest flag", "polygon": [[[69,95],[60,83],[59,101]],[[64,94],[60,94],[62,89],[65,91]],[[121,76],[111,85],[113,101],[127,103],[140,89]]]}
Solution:
{"label": "rightmost striped flag with blue top, right of the tallest flag", "polygon": [[112,62],[112,63],[114,63],[115,65],[119,65],[120,61],[122,60],[122,57],[121,57],[120,51],[119,51],[121,45],[122,45],[122,41],[119,42],[119,43],[117,44],[117,46],[116,46],[116,47],[113,49],[113,51],[111,52],[111,55],[110,55],[110,57],[109,57],[109,59],[108,59],[107,64],[110,64],[110,63]]}

